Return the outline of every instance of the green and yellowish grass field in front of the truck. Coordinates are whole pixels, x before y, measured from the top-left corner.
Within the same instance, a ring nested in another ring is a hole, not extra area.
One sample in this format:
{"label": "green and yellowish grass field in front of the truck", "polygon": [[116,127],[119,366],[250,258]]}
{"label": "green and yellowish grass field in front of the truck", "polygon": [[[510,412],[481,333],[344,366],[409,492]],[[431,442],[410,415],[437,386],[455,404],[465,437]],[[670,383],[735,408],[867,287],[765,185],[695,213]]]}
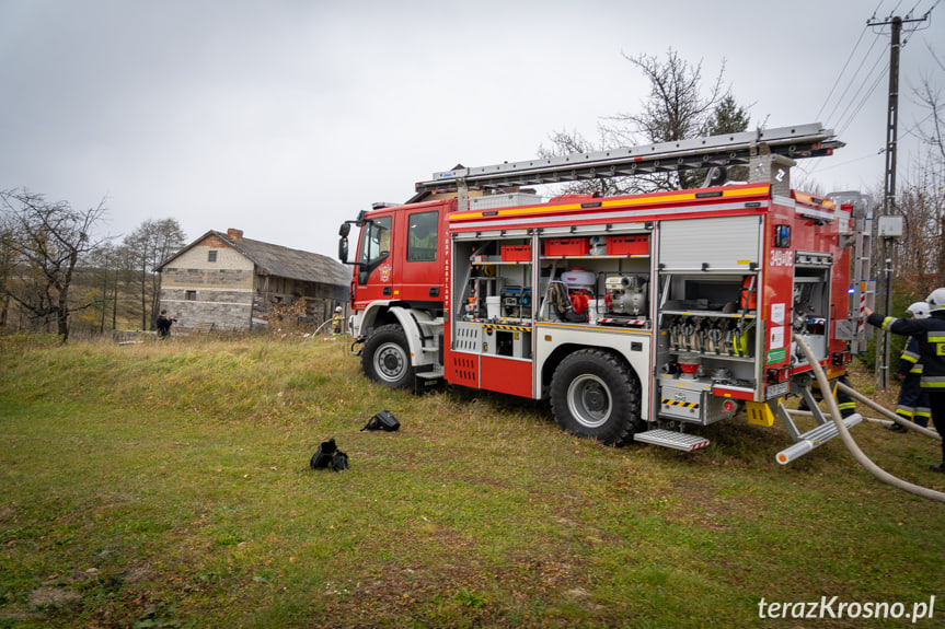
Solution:
{"label": "green and yellowish grass field in front of the truck", "polygon": [[[371,384],[345,341],[3,343],[0,628],[945,624],[945,505],[840,440],[781,466],[784,429],[736,418],[611,449],[539,403]],[[401,430],[361,432],[381,409]],[[852,432],[945,490],[936,442]],[[329,438],[349,469],[309,469]]]}

